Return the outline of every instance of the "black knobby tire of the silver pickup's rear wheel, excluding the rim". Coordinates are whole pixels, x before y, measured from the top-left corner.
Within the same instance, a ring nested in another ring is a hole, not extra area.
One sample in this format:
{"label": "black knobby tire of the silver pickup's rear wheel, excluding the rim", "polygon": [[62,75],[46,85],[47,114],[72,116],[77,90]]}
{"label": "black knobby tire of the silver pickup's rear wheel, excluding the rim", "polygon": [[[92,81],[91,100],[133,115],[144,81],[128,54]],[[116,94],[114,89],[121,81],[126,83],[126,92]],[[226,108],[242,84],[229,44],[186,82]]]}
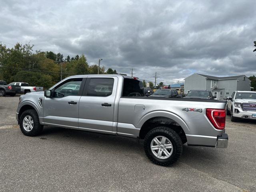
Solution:
{"label": "black knobby tire of the silver pickup's rear wheel, excluding the rim", "polygon": [[[152,140],[157,137],[157,136],[164,136],[166,137],[168,140],[170,140],[170,142],[172,143],[172,154],[170,155],[170,157],[166,158],[166,159],[160,159],[158,157],[156,157],[153,152],[151,151],[151,142]],[[182,154],[182,150],[183,150],[183,146],[182,146],[182,140],[180,139],[180,136],[171,128],[168,127],[156,127],[152,130],[150,130],[150,132],[148,132],[148,134],[146,135],[145,139],[144,139],[144,150],[146,152],[146,155],[148,156],[148,158],[157,165],[160,166],[170,166],[172,164],[174,164],[181,156]]]}

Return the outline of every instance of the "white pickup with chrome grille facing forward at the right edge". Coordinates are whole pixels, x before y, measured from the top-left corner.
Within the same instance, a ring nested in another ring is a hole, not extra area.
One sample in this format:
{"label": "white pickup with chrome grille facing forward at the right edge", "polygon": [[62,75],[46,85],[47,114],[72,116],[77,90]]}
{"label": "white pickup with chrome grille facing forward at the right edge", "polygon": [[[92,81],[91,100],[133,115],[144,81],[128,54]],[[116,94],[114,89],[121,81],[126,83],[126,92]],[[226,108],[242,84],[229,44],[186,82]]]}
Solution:
{"label": "white pickup with chrome grille facing forward at the right edge", "polygon": [[231,121],[240,118],[256,120],[256,92],[235,91],[227,102],[226,114],[231,116]]}

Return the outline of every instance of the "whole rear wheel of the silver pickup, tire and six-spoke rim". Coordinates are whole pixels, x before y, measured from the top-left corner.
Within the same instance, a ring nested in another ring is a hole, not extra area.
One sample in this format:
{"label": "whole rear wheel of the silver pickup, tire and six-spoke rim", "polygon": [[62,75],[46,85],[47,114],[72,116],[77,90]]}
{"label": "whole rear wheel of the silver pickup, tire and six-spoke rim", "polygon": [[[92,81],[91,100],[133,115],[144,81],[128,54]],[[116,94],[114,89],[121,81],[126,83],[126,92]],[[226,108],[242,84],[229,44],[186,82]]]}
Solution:
{"label": "whole rear wheel of the silver pickup, tire and six-spoke rim", "polygon": [[146,135],[144,150],[153,163],[170,166],[182,154],[182,140],[174,130],[168,127],[156,127]]}

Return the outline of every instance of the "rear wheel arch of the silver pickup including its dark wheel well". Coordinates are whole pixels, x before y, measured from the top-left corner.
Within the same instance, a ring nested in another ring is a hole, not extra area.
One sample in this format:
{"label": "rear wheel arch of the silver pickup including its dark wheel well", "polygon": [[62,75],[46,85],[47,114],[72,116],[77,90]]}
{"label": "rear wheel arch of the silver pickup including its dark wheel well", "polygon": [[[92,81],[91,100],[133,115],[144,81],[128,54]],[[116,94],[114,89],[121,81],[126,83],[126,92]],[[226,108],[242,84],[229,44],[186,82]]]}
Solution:
{"label": "rear wheel arch of the silver pickup including its dark wheel well", "polygon": [[186,140],[189,132],[187,124],[174,113],[167,111],[155,111],[146,114],[138,123],[140,127],[139,137],[144,139],[146,134],[156,126],[166,126],[177,132],[182,140]]}

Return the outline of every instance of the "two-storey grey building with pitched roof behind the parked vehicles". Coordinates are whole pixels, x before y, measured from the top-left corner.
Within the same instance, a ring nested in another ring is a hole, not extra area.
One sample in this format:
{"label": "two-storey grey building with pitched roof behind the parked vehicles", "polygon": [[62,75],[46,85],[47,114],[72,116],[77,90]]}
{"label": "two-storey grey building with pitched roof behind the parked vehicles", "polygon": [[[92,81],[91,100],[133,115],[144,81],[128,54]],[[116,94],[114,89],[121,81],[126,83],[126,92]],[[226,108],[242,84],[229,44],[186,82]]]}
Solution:
{"label": "two-storey grey building with pitched roof behind the parked vehicles", "polygon": [[245,75],[215,77],[194,73],[185,78],[184,93],[189,90],[211,90],[217,99],[231,96],[234,91],[250,91],[250,79]]}

